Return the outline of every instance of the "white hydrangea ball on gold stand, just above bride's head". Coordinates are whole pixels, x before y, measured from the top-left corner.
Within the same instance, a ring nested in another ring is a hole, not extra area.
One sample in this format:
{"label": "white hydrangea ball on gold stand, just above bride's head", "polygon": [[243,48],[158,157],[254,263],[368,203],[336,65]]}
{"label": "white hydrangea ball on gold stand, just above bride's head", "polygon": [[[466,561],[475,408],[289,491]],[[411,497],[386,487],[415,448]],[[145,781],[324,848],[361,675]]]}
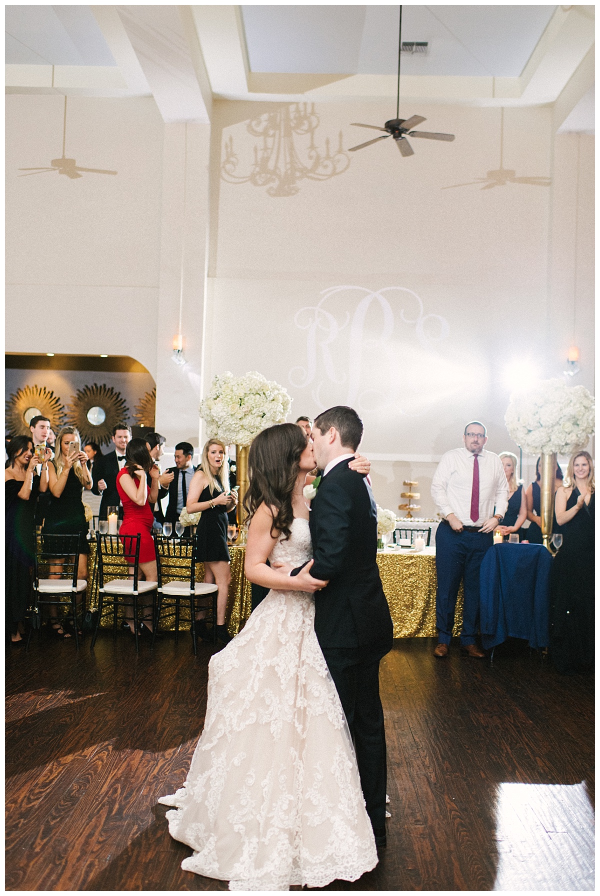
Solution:
{"label": "white hydrangea ball on gold stand, just above bride's head", "polygon": [[215,376],[199,410],[209,438],[248,445],[268,426],[285,423],[291,407],[283,386],[251,370],[244,376],[228,371]]}

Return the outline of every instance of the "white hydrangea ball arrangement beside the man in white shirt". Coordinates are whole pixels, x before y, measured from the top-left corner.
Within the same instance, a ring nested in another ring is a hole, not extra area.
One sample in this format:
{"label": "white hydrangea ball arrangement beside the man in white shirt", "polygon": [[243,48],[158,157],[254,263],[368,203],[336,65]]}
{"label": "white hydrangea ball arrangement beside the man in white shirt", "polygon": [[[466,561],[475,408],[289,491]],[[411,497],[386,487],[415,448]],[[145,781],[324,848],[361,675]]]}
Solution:
{"label": "white hydrangea ball arrangement beside the man in white shirt", "polygon": [[510,396],[504,417],[510,437],[529,454],[570,454],[594,435],[595,401],[585,386],[543,380]]}

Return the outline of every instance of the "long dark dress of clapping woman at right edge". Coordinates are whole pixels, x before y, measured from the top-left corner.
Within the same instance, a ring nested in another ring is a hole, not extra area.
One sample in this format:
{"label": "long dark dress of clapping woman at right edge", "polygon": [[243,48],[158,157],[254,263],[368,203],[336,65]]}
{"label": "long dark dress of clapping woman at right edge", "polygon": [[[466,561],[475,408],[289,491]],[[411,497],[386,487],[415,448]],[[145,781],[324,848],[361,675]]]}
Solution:
{"label": "long dark dress of clapping woman at right edge", "polygon": [[[577,504],[574,488],[567,510]],[[595,498],[561,526],[562,547],[554,557],[551,578],[550,651],[562,675],[594,669]]]}

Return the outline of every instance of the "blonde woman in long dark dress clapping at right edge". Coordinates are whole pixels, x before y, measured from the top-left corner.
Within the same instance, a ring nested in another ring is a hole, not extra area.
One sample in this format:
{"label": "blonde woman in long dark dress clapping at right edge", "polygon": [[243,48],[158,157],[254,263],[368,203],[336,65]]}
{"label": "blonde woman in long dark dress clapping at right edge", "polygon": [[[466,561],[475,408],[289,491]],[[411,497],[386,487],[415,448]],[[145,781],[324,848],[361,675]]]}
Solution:
{"label": "blonde woman in long dark dress clapping at right edge", "polygon": [[550,654],[562,675],[594,671],[595,494],[594,461],[576,452],[555,504],[562,546],[551,579]]}

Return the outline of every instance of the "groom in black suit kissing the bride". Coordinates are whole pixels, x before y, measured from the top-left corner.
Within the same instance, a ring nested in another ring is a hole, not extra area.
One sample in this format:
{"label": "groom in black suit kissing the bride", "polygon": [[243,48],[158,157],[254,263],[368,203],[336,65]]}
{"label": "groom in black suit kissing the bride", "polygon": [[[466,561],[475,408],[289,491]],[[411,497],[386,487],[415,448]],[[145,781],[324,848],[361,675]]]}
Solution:
{"label": "groom in black suit kissing the bride", "polygon": [[384,847],[386,754],[379,663],[391,650],[393,625],[376,560],[377,511],[371,487],[364,476],[348,469],[363,437],[363,423],[352,408],[330,408],[316,418],[312,435],[322,473],[311,506],[310,574],[329,581],[314,595],[314,631],[354,741],[375,843]]}

